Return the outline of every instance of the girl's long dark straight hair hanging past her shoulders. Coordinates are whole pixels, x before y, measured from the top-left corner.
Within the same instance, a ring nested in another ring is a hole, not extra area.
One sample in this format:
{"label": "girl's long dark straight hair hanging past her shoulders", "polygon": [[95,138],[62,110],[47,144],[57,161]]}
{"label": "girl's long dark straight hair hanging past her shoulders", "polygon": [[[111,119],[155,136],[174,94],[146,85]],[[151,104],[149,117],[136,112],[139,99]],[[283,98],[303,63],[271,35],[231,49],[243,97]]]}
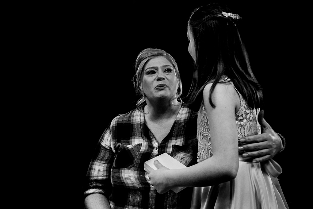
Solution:
{"label": "girl's long dark straight hair hanging past her shoulders", "polygon": [[231,13],[226,6],[212,3],[195,9],[189,18],[188,27],[195,43],[197,79],[192,84],[188,103],[198,110],[203,88],[212,82],[209,102],[215,107],[212,92],[218,83],[229,82],[223,79],[228,77],[249,107],[259,108],[262,88],[251,71],[248,54],[236,26],[240,18],[226,17],[222,12]]}

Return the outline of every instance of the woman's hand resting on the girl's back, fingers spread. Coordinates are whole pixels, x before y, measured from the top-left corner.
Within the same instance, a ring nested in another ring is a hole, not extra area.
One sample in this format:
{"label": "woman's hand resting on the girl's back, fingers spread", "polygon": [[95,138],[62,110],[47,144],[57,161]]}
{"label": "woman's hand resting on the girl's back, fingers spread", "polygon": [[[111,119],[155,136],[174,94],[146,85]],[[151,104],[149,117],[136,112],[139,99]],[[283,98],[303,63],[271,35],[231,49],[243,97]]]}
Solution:
{"label": "woman's hand resting on the girl's back, fingers spread", "polygon": [[239,151],[246,150],[244,157],[253,157],[253,162],[262,162],[273,158],[283,149],[282,140],[277,133],[264,120],[264,110],[259,113],[259,123],[262,134],[249,136],[240,139],[240,142],[247,143],[239,147]]}

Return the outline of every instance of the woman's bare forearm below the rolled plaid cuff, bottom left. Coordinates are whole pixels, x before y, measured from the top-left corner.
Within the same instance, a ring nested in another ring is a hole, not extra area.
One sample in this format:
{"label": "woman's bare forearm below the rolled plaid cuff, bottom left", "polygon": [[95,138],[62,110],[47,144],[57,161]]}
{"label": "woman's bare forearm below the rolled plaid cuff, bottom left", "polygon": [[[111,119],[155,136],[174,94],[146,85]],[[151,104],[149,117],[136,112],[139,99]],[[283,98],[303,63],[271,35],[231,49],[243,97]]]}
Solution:
{"label": "woman's bare forearm below the rolled plaid cuff, bottom left", "polygon": [[85,198],[86,209],[110,209],[110,203],[108,199],[100,194],[94,193],[86,196]]}

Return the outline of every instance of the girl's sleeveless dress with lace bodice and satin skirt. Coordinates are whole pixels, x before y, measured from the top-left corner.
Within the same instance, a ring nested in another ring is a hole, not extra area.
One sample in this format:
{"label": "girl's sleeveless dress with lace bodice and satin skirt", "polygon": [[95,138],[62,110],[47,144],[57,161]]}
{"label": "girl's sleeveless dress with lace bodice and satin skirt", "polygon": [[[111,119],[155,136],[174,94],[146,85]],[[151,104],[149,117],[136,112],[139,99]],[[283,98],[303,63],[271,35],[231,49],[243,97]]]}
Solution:
{"label": "girl's sleeveless dress with lace bodice and satin skirt", "polygon": [[[230,84],[233,86],[232,82]],[[240,108],[236,113],[238,139],[260,134],[259,109],[251,109],[236,91],[240,97]],[[212,157],[214,150],[203,101],[198,112],[198,147],[198,162]],[[194,187],[192,209],[288,209],[277,179],[282,172],[280,165],[273,159],[252,163],[241,154],[239,152],[239,170],[235,179],[213,186]]]}

